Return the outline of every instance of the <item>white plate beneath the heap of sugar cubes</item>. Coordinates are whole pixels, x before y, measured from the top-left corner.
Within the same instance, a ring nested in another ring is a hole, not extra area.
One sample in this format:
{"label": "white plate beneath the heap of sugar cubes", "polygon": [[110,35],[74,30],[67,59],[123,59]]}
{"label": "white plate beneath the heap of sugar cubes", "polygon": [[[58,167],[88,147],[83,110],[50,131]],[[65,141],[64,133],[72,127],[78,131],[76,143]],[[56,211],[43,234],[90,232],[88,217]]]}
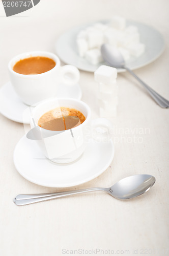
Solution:
{"label": "white plate beneath the heap of sugar cubes", "polygon": [[[105,24],[108,23],[108,20],[102,20],[101,22]],[[80,70],[95,72],[100,64],[94,66],[90,64],[86,59],[79,57],[76,47],[77,33],[88,26],[92,26],[93,24],[94,23],[90,23],[72,28],[59,37],[55,44],[55,51],[57,52],[57,55],[61,58],[61,60],[63,60],[67,64],[76,66]],[[137,26],[138,32],[140,34],[140,42],[143,42],[143,44],[145,44],[146,46],[146,50],[143,55],[137,58],[130,58],[129,61],[126,61],[126,66],[128,66],[128,68],[130,68],[131,70],[134,70],[146,66],[155,59],[157,59],[164,50],[164,40],[162,35],[153,27],[142,23],[134,22],[132,20],[127,20],[127,26],[129,25]],[[124,71],[124,69],[118,70],[118,72]]]}

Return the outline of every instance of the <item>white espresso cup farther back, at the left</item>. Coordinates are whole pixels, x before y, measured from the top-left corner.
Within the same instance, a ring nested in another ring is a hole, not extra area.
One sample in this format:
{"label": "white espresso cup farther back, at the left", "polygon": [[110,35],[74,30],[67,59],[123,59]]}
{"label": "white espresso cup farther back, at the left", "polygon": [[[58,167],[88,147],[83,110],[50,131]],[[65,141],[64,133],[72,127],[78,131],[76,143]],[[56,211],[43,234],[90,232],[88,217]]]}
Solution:
{"label": "white espresso cup farther back, at the left", "polygon": [[[35,75],[23,75],[13,70],[14,65],[21,59],[29,57],[48,57],[56,65],[51,70]],[[77,84],[80,74],[76,67],[65,65],[61,67],[60,59],[53,53],[44,51],[26,52],[12,58],[8,65],[11,83],[20,97],[27,105],[33,105],[41,100],[57,96],[59,84]]]}

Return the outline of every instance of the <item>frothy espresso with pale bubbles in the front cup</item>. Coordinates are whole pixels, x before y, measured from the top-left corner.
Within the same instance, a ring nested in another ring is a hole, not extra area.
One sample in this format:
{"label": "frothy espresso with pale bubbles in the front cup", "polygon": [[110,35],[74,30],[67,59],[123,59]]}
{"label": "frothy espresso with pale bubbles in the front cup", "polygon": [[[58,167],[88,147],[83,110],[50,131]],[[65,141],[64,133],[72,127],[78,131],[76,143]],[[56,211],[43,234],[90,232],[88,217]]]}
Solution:
{"label": "frothy espresso with pale bubbles in the front cup", "polygon": [[85,116],[80,111],[60,107],[43,114],[38,120],[38,125],[50,131],[65,131],[80,125],[85,120]]}

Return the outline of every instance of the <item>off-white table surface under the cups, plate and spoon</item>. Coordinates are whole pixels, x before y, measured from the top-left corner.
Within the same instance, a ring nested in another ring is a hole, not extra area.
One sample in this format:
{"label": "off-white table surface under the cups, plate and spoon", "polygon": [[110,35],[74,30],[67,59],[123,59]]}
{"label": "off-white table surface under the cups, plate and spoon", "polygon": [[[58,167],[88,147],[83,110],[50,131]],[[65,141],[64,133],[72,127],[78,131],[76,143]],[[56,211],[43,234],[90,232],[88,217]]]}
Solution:
{"label": "off-white table surface under the cups, plate and spoon", "polygon": [[[54,52],[57,37],[72,26],[118,14],[154,26],[163,35],[166,48],[162,56],[135,73],[169,99],[168,9],[167,0],[41,0],[33,9],[7,18],[1,2],[0,86],[9,80],[8,61],[16,54],[31,50]],[[94,75],[80,74],[82,100],[90,105],[93,117],[97,117]],[[73,188],[110,186],[134,174],[154,175],[155,185],[148,193],[129,201],[93,193],[18,207],[13,203],[17,194],[68,188],[38,186],[17,173],[13,151],[24,135],[23,124],[0,115],[0,255],[61,256],[65,252],[63,249],[68,250],[67,255],[71,250],[84,249],[90,253],[96,248],[114,250],[120,255],[133,255],[134,252],[137,255],[146,252],[169,255],[166,250],[169,247],[169,110],[161,109],[151,100],[130,74],[119,74],[118,84],[118,115],[112,121],[116,127],[116,141],[122,139],[118,143],[115,141],[115,158],[98,178]],[[123,134],[127,128],[129,134]],[[144,134],[136,132],[140,129]],[[97,251],[97,255],[102,254]]]}

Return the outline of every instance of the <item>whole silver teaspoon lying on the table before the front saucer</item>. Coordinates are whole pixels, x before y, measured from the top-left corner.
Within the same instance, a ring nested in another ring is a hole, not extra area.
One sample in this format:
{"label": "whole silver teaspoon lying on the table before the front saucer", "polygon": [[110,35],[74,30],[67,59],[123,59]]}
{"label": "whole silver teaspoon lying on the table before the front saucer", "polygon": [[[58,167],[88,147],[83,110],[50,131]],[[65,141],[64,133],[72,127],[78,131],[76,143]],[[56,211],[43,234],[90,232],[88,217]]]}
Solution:
{"label": "whole silver teaspoon lying on the table before the front saucer", "polygon": [[94,187],[59,193],[18,195],[14,198],[14,203],[21,206],[92,191],[105,191],[117,199],[130,199],[144,194],[154,183],[155,178],[153,176],[139,174],[124,178],[108,188]]}

